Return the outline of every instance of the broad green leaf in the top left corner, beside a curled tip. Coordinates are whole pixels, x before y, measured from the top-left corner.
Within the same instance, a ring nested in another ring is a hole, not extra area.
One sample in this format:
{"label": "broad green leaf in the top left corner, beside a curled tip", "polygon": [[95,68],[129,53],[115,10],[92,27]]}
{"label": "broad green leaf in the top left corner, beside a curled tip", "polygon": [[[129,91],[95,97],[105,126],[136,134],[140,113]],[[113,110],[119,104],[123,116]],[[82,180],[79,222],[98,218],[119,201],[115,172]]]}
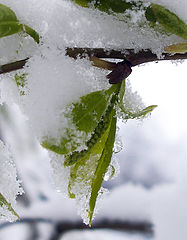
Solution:
{"label": "broad green leaf in the top left corner, beside a curled tip", "polygon": [[18,33],[22,30],[15,13],[3,4],[0,4],[0,38]]}

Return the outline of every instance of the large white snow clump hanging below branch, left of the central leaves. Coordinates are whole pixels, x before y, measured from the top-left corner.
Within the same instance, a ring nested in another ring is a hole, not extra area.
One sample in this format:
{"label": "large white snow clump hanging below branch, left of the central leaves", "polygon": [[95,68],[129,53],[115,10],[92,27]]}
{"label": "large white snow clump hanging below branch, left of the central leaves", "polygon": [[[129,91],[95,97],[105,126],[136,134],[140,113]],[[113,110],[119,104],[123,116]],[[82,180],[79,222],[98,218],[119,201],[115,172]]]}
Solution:
{"label": "large white snow clump hanging below branch, left of the central leaves", "polygon": [[71,59],[64,51],[41,48],[42,55],[27,63],[28,73],[23,109],[38,138],[58,139],[68,126],[64,113],[72,102],[107,86],[103,77],[96,78],[88,60]]}

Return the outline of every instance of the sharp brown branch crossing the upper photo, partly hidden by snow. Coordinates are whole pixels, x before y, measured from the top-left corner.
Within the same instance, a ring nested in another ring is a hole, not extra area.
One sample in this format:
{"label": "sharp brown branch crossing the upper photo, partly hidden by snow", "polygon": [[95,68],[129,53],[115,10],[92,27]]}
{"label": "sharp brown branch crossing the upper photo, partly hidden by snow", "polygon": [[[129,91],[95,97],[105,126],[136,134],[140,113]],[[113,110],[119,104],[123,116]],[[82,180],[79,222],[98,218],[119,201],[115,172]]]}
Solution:
{"label": "sharp brown branch crossing the upper photo, partly hidden by snow", "polygon": [[[151,50],[141,50],[137,53],[133,49],[126,50],[105,50],[103,48],[67,48],[66,55],[77,59],[78,57],[90,57],[94,66],[112,70],[115,68],[115,63],[99,60],[100,58],[107,59],[122,59],[127,60],[131,63],[131,66],[137,66],[142,63],[163,61],[163,60],[183,60],[187,59],[187,53],[184,54],[169,54],[163,53],[162,58],[158,58],[156,54],[152,53]],[[98,59],[99,58],[99,59]],[[15,61],[12,63],[4,64],[0,66],[0,74],[12,72],[18,69],[22,69],[29,58]]]}

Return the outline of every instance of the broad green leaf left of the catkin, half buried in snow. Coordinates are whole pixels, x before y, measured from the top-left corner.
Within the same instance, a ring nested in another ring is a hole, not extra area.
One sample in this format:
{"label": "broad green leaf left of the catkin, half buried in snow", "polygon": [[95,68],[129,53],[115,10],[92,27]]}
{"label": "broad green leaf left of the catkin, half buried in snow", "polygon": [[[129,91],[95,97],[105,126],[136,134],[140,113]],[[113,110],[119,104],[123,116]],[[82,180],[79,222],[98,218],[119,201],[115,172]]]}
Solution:
{"label": "broad green leaf left of the catkin, half buried in snow", "polygon": [[[82,131],[85,134],[92,134],[94,132],[108,107],[111,96],[118,88],[119,86],[116,84],[108,90],[87,94],[81,97],[80,102],[73,103],[73,109],[68,117],[72,118],[77,132],[66,129],[60,143],[57,143],[55,139],[45,138],[42,142],[42,146],[58,154],[68,154],[75,151],[76,148],[81,146],[78,131]],[[93,138],[91,141],[93,141]],[[89,145],[90,143],[87,144]],[[82,152],[78,155],[81,154]]]}

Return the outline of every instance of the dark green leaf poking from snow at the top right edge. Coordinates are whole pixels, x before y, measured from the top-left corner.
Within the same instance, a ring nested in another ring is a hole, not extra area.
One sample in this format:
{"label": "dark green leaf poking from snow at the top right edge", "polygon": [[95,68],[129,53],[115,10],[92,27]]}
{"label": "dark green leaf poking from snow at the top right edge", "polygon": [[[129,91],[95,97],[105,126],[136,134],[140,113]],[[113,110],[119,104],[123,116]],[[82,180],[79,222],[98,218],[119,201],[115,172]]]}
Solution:
{"label": "dark green leaf poking from snow at the top right edge", "polygon": [[158,22],[167,32],[187,39],[187,25],[173,12],[158,4],[151,4],[145,13],[147,20]]}

